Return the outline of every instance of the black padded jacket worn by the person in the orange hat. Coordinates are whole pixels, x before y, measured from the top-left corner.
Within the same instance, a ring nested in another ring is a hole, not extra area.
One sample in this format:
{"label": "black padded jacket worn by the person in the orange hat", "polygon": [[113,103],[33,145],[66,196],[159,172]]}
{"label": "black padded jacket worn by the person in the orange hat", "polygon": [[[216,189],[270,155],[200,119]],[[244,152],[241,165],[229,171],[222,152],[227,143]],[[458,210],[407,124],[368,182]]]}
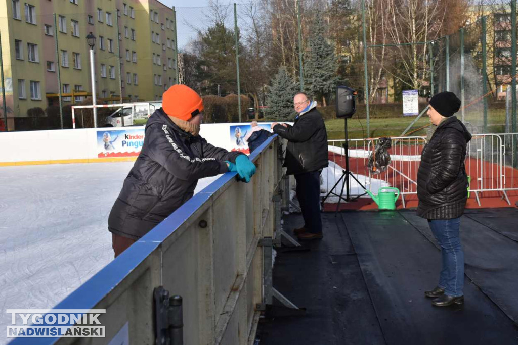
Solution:
{"label": "black padded jacket worn by the person in the orange hat", "polygon": [[148,119],[144,143],[108,218],[110,232],[138,239],[189,200],[199,178],[228,171],[239,152],[181,130],[162,108]]}

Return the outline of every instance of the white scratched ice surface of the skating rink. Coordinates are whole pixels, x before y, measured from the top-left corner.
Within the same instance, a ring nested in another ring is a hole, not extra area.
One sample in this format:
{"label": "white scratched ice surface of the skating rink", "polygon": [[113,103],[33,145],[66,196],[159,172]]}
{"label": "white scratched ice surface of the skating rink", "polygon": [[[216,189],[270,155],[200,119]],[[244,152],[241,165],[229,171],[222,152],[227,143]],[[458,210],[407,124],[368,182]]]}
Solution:
{"label": "white scratched ice surface of the skating rink", "polygon": [[[132,167],[0,167],[0,330],[6,309],[50,309],[113,260],[108,215]],[[0,331],[0,344],[9,340]]]}

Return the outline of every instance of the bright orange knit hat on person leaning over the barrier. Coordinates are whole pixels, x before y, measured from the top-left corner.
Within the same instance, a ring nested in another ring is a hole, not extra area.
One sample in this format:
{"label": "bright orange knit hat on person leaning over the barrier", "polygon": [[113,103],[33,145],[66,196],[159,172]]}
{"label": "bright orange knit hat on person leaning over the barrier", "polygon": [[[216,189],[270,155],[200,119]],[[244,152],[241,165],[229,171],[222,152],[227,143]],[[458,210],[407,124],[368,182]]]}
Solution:
{"label": "bright orange knit hat on person leaning over the barrier", "polygon": [[188,121],[203,111],[203,99],[189,86],[172,85],[162,96],[162,109],[169,116]]}

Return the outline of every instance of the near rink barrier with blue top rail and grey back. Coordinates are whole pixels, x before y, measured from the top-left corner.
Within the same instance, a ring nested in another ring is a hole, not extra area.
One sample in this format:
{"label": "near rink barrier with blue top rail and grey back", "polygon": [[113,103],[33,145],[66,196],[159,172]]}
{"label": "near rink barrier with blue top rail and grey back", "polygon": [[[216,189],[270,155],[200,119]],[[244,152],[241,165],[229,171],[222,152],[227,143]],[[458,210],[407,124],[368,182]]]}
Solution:
{"label": "near rink barrier with blue top rail and grey back", "polygon": [[184,343],[249,344],[264,295],[258,243],[274,234],[272,197],[283,180],[279,146],[273,136],[250,155],[257,165],[250,183],[223,174],[54,307],[106,309],[98,318],[105,338],[18,338],[11,344],[108,344],[126,323],[130,344],[154,343],[158,286],[183,297]]}

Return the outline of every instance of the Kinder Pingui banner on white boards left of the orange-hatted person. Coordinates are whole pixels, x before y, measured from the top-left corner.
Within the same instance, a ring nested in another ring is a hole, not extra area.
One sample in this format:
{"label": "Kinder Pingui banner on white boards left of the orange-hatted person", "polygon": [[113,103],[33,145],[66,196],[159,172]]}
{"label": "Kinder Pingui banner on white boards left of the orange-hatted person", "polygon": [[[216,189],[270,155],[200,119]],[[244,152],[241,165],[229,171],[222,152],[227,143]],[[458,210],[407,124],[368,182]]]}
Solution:
{"label": "Kinder Pingui banner on white boards left of the orange-hatted person", "polygon": [[137,157],[144,143],[144,129],[98,130],[97,157]]}

